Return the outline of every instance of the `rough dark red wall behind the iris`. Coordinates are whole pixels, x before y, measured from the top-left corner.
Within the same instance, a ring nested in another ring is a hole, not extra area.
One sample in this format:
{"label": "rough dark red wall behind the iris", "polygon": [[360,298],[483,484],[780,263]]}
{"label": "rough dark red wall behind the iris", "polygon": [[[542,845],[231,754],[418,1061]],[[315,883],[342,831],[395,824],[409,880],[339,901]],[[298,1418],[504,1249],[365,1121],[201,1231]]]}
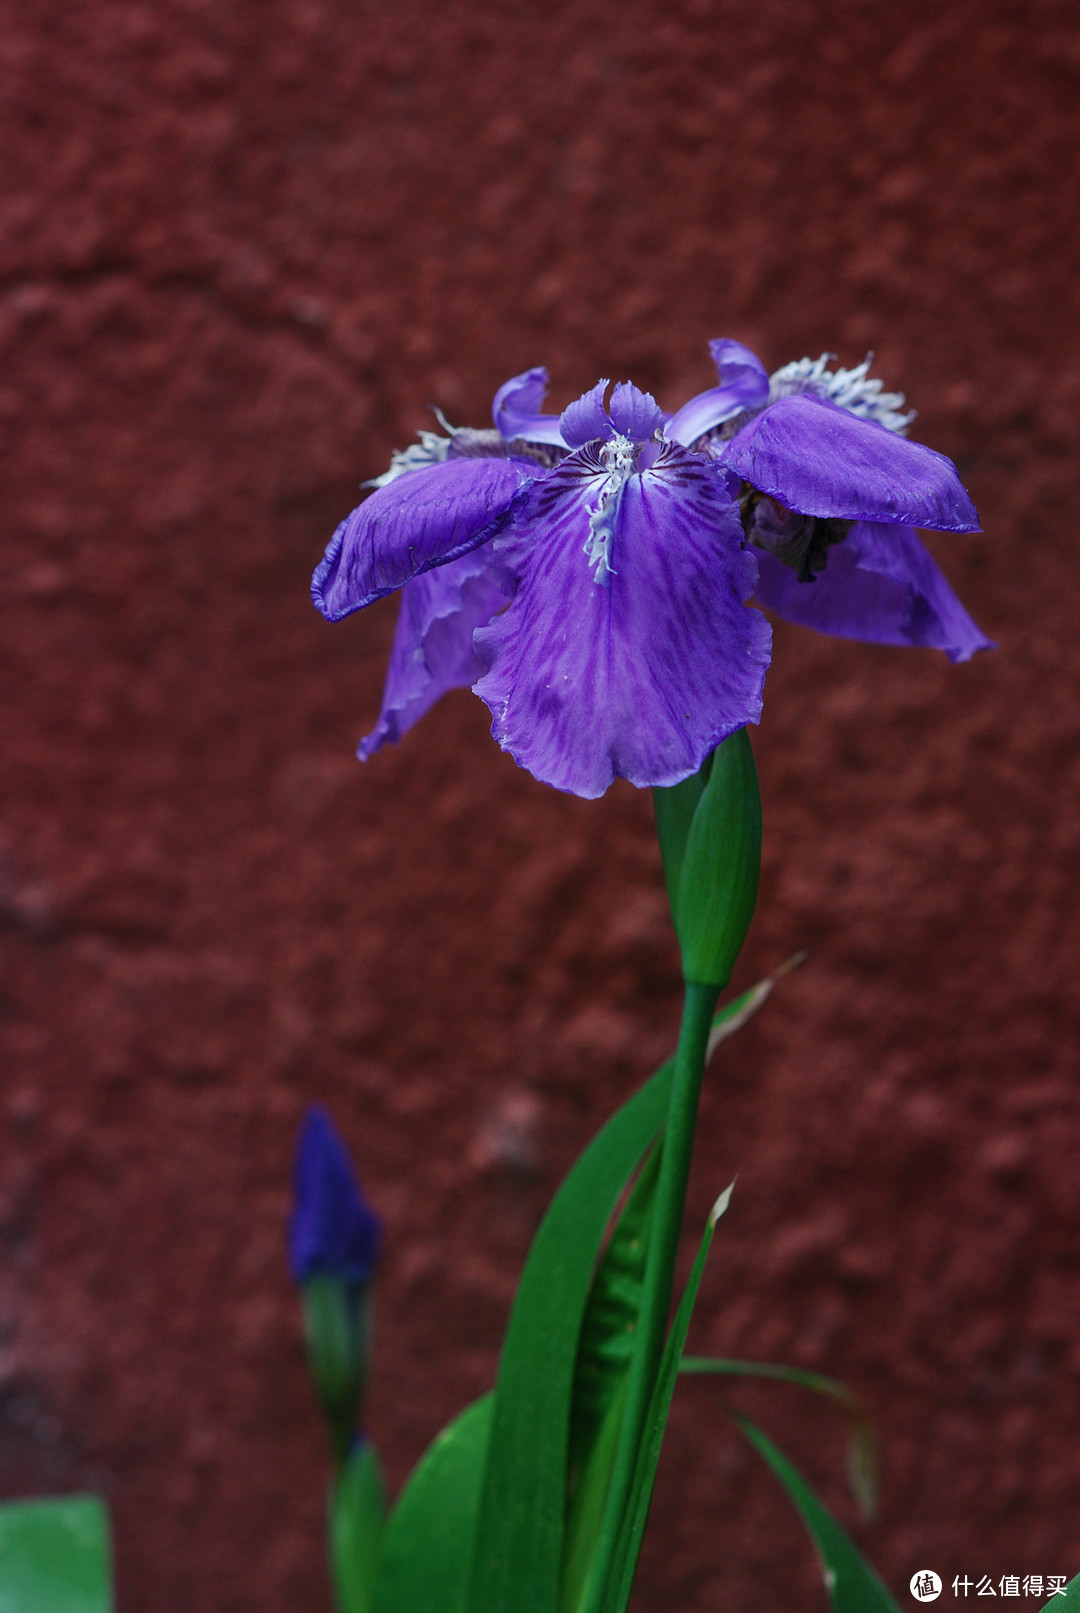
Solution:
{"label": "rough dark red wall behind the iris", "polygon": [[[645,794],[445,700],[361,766],[395,605],[308,577],[361,479],[545,363],[675,406],[706,340],[874,350],[985,534],[999,650],[779,624],[766,873],[692,1192],[692,1345],[898,1594],[1080,1569],[1080,23],[1056,0],[3,0],[0,1495],[102,1489],[124,1613],[326,1613],[284,1223],[324,1102],[385,1218],[397,1486],[485,1389],[529,1237],[667,1052]],[[824,1607],[679,1392],[635,1607]]]}

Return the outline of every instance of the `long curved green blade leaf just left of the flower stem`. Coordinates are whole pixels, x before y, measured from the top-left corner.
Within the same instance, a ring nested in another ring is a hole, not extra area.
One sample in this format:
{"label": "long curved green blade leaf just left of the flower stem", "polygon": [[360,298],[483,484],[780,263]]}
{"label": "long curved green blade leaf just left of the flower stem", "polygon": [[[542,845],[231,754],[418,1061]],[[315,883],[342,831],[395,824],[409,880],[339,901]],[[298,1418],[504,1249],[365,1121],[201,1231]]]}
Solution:
{"label": "long curved green blade leaf just left of the flower stem", "polygon": [[619,1194],[656,1137],[671,1060],[608,1121],[537,1232],[506,1327],[469,1613],[555,1613],[574,1365],[596,1257]]}

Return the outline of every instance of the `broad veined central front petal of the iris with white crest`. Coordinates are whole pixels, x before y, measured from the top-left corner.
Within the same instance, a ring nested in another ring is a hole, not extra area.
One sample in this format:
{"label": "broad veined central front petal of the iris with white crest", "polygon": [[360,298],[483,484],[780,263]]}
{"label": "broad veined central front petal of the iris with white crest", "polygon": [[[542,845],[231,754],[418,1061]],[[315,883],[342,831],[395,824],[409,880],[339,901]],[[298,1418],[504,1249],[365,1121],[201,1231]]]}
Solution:
{"label": "broad veined central front petal of the iris with white crest", "polygon": [[[584,553],[601,495],[617,498],[603,586]],[[519,586],[476,634],[476,692],[543,782],[585,797],[616,776],[675,784],[758,721],[771,634],[743,603],[756,568],[709,461],[667,444],[613,494],[585,447],[537,486],[500,552]]]}

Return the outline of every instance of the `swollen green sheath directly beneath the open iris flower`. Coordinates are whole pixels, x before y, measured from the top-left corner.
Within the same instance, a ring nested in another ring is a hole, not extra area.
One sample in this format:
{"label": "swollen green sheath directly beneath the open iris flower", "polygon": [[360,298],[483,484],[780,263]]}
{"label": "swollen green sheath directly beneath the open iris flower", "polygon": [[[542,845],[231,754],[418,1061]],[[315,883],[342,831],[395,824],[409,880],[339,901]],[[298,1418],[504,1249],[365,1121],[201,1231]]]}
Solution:
{"label": "swollen green sheath directly beneath the open iris flower", "polygon": [[712,753],[674,905],[687,981],[727,986],[746,939],[761,871],[761,794],[746,729]]}

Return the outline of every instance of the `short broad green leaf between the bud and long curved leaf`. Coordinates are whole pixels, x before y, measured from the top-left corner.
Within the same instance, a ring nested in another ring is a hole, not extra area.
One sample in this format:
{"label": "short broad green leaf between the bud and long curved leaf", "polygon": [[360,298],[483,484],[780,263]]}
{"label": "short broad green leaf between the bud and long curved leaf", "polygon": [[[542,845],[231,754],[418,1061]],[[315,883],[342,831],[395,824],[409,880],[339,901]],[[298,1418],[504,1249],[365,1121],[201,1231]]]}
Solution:
{"label": "short broad green leaf between the bud and long curved leaf", "polygon": [[493,1395],[429,1445],[382,1532],[374,1613],[459,1613],[480,1505]]}

